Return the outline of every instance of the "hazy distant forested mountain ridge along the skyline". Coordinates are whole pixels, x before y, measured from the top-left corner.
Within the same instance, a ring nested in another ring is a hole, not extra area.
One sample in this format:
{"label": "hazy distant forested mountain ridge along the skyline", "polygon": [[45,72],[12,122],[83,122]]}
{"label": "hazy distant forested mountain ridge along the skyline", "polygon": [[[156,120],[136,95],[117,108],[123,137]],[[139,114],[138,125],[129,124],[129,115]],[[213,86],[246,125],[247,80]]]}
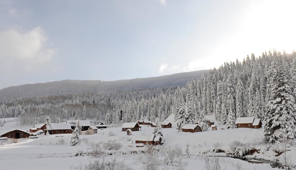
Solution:
{"label": "hazy distant forested mountain ridge along the skyline", "polygon": [[59,96],[78,93],[99,93],[109,90],[138,90],[144,88],[166,88],[183,86],[192,78],[200,78],[204,72],[184,72],[160,77],[136,78],[130,80],[62,80],[46,83],[11,86],[0,90],[0,101],[34,96]]}

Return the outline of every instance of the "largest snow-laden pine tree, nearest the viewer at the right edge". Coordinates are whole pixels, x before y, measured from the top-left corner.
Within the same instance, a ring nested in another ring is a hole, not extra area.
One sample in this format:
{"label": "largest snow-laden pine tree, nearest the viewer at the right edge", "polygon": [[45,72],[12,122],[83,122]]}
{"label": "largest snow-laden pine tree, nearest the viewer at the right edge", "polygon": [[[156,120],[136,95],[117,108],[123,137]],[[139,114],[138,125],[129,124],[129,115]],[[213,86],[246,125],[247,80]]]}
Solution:
{"label": "largest snow-laden pine tree, nearest the viewer at the right edge", "polygon": [[270,105],[264,126],[265,141],[270,143],[296,137],[295,99],[282,60],[282,57],[279,56],[279,65],[271,86],[272,98],[268,102]]}

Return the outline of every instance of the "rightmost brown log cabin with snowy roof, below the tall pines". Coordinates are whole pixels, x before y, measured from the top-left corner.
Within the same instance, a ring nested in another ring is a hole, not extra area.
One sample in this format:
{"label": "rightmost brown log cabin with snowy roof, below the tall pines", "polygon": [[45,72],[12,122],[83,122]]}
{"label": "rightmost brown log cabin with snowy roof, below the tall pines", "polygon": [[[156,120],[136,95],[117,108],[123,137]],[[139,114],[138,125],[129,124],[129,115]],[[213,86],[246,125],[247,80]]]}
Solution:
{"label": "rightmost brown log cabin with snowy roof, below the tall pines", "polygon": [[260,119],[255,119],[255,117],[238,117],[235,122],[237,128],[262,128],[262,122]]}

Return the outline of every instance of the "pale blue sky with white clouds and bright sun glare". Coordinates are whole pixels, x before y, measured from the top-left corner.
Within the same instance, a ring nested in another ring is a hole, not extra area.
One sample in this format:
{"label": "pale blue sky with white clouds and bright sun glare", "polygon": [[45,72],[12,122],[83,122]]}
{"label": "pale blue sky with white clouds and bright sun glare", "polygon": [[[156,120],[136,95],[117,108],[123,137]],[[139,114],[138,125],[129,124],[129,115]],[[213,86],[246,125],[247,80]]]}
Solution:
{"label": "pale blue sky with white clouds and bright sun glare", "polygon": [[218,68],[296,50],[296,1],[0,0],[0,88]]}

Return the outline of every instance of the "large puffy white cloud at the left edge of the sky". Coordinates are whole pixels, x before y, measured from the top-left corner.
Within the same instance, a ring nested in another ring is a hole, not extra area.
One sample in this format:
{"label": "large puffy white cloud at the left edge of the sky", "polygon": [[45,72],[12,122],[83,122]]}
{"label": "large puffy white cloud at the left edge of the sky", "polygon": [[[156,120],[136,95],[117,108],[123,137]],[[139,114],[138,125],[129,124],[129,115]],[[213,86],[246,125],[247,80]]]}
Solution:
{"label": "large puffy white cloud at the left edge of the sky", "polygon": [[15,28],[0,32],[0,68],[33,71],[52,59],[56,53],[47,44],[47,37],[40,28],[22,33]]}

